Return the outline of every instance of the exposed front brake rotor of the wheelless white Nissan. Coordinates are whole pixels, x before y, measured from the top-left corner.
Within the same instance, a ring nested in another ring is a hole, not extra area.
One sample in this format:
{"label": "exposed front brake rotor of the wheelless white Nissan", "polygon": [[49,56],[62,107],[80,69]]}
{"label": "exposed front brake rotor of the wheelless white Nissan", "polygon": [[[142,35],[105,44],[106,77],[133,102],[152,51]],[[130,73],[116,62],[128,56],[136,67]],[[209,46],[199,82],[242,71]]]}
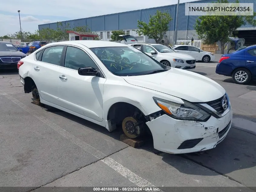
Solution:
{"label": "exposed front brake rotor of the wheelless white Nissan", "polygon": [[122,122],[122,129],[125,135],[132,139],[138,137],[136,134],[135,123],[137,124],[138,121],[133,117],[126,117]]}

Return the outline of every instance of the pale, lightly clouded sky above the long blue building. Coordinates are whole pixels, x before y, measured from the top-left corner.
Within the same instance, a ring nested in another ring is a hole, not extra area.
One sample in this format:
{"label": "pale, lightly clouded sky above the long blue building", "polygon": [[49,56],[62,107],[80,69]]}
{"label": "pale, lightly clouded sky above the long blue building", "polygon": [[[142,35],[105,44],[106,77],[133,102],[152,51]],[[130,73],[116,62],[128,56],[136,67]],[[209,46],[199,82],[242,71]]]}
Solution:
{"label": "pale, lightly clouded sky above the long blue building", "polygon": [[[180,3],[197,0],[180,0]],[[0,6],[0,36],[35,32],[38,25],[117,12],[177,4],[178,0],[8,0]]]}

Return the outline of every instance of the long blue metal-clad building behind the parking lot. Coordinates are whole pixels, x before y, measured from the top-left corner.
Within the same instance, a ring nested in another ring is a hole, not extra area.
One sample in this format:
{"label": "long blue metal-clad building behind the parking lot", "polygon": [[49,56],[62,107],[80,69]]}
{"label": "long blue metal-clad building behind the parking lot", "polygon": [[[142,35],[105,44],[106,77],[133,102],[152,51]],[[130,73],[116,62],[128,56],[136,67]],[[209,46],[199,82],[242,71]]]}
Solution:
{"label": "long blue metal-clad building behind the parking lot", "polygon": [[[234,1],[235,0],[230,0],[229,2],[234,2]],[[202,0],[197,2],[211,3],[212,0]],[[254,11],[256,12],[255,0],[240,0],[240,3],[254,3]],[[95,17],[89,17],[89,18],[83,18],[83,19],[63,21],[62,24],[67,25],[69,23],[69,25],[72,28],[76,26],[88,25],[91,31],[96,32],[98,35],[100,35],[101,40],[104,40],[104,41],[110,40],[110,35],[112,30],[121,29],[125,31],[125,33],[127,34],[136,36],[138,38],[138,41],[140,42],[151,43],[151,42],[154,42],[153,39],[148,39],[148,37],[146,36],[139,36],[135,31],[132,31],[132,29],[137,29],[138,20],[148,22],[149,16],[154,15],[157,10],[160,10],[162,12],[168,12],[172,17],[172,21],[169,24],[169,31],[166,33],[166,36],[165,36],[165,39],[167,39],[168,42],[172,43],[174,32],[175,32],[177,4],[162,6],[162,7],[155,7],[155,8],[140,9],[140,10],[128,11],[128,12],[120,12],[120,13],[114,13],[109,15],[101,15],[101,16],[95,16]],[[194,25],[198,17],[199,16],[186,16],[185,3],[179,4],[178,23],[177,23],[177,28],[178,28],[177,40],[191,39],[191,38],[197,39],[197,34],[194,30]],[[55,22],[55,23],[38,25],[39,30],[44,28],[56,29],[57,23]],[[247,42],[255,41],[254,44],[256,44],[256,40],[255,40],[256,27],[253,27],[247,24],[242,26],[238,30],[239,30],[238,36],[245,38]]]}

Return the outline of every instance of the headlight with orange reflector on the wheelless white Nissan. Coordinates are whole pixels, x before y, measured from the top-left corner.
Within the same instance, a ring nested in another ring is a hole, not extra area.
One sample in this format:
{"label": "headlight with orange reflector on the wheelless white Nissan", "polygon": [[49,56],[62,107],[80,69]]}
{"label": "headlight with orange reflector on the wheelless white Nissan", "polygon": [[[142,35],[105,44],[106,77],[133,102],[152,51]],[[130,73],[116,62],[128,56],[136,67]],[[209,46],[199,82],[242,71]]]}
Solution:
{"label": "headlight with orange reflector on the wheelless white Nissan", "polygon": [[210,117],[210,114],[205,112],[198,106],[193,105],[187,101],[184,104],[174,103],[153,97],[155,103],[174,119],[178,120],[192,120],[192,121],[205,121]]}

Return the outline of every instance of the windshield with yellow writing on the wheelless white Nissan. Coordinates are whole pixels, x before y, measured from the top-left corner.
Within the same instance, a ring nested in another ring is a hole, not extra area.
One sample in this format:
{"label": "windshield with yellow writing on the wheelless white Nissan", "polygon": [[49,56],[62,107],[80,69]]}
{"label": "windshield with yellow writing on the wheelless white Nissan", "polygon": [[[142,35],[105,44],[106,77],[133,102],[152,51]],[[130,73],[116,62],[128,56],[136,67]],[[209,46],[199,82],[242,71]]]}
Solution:
{"label": "windshield with yellow writing on the wheelless white Nissan", "polygon": [[166,70],[166,66],[134,47],[98,47],[91,50],[117,76],[146,75]]}

